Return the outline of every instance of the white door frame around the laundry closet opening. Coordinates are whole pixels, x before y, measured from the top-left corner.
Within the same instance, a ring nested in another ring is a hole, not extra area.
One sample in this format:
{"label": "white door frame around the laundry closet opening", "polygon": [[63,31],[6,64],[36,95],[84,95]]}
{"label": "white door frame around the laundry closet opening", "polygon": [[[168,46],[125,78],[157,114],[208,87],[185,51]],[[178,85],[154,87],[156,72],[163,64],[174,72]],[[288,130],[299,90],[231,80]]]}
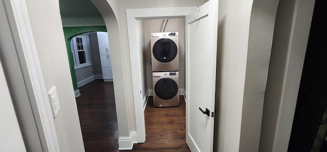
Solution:
{"label": "white door frame around the laundry closet opening", "polygon": [[[137,20],[139,19],[160,19],[160,18],[178,18],[185,17],[197,7],[174,7],[174,8],[149,8],[149,9],[127,9],[127,32],[129,41],[129,52],[131,60],[131,73],[133,84],[133,100],[136,122],[136,142],[145,142],[145,118],[143,107],[142,77],[141,77],[141,57],[139,52],[142,50],[138,47]],[[186,93],[185,93],[186,94]]]}

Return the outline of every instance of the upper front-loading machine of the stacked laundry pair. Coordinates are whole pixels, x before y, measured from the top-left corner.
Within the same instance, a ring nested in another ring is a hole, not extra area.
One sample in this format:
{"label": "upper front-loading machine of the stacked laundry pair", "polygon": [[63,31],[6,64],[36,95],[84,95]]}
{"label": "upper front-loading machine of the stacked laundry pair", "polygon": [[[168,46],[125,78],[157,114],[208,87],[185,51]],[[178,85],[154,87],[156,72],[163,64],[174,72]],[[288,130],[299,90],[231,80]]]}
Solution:
{"label": "upper front-loading machine of the stacked laundry pair", "polygon": [[178,71],[178,32],[151,33],[152,71]]}

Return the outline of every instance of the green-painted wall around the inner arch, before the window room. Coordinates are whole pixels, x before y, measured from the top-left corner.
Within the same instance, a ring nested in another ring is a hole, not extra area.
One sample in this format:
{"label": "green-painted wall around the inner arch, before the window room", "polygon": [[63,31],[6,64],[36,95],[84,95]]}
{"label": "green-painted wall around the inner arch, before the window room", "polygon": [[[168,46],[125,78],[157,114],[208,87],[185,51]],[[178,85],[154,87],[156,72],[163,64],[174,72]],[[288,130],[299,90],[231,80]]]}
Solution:
{"label": "green-painted wall around the inner arch, before the window room", "polygon": [[69,60],[69,68],[71,69],[72,81],[74,90],[77,90],[77,80],[74,68],[74,59],[71,48],[71,40],[73,37],[88,33],[88,32],[107,32],[106,26],[77,26],[77,27],[63,27],[63,33],[65,36],[68,60]]}

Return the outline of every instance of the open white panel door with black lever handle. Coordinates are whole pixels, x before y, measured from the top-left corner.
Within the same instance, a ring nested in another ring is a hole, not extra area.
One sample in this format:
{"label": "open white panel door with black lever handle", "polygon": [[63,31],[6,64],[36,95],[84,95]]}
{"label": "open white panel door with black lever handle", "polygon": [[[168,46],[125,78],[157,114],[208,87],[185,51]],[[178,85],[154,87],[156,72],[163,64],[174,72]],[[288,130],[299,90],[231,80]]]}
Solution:
{"label": "open white panel door with black lever handle", "polygon": [[218,0],[185,18],[186,143],[191,151],[213,151],[217,31]]}

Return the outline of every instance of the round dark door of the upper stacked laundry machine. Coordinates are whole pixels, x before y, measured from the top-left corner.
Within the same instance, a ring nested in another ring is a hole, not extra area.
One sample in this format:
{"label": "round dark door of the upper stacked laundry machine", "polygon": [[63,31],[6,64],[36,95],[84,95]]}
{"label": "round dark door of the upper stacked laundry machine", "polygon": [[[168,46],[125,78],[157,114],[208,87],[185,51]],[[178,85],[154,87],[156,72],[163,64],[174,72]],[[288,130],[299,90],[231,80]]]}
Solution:
{"label": "round dark door of the upper stacked laundry machine", "polygon": [[159,39],[153,45],[153,56],[161,63],[171,62],[177,55],[177,46],[171,39]]}

